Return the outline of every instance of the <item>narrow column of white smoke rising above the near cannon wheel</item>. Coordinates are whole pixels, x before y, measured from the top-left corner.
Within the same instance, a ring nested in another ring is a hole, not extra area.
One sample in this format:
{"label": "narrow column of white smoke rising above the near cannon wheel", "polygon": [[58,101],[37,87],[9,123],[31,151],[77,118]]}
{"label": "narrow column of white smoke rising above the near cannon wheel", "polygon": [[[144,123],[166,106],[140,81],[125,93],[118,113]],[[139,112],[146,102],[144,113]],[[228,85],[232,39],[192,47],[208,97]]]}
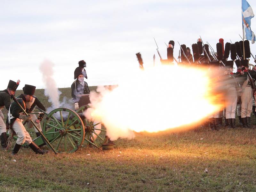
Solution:
{"label": "narrow column of white smoke rising above the near cannon wheel", "polygon": [[49,60],[44,60],[39,69],[43,75],[43,82],[45,85],[44,95],[49,97],[49,102],[52,103],[53,108],[60,107],[60,94],[57,85],[53,79],[54,64]]}

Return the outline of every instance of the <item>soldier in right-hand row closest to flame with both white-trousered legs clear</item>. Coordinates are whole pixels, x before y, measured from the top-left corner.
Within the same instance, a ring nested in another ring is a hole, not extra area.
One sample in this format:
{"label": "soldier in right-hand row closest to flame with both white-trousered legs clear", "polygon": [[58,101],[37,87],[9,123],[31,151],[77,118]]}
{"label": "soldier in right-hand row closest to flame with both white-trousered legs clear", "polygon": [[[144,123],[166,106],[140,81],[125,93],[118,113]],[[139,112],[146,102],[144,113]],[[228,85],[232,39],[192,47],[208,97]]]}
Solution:
{"label": "soldier in right-hand row closest to flame with both white-trousered legs clear", "polygon": [[234,79],[233,65],[234,61],[226,61],[226,71],[224,72],[226,76],[226,95],[225,95],[225,108],[226,108],[226,119],[228,127],[235,128],[236,120],[236,104],[237,104],[237,92],[236,92],[236,82]]}

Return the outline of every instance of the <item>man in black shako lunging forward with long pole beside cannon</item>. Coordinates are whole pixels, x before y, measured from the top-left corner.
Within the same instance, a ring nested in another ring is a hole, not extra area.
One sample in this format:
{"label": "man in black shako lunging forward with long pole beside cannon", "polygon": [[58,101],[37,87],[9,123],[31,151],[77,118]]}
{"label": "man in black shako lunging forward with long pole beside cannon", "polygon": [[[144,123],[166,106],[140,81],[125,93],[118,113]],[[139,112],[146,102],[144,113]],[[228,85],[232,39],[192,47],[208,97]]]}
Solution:
{"label": "man in black shako lunging forward with long pole beside cannon", "polygon": [[[20,103],[21,107],[24,110],[26,110],[26,102],[31,101],[33,99],[35,90],[36,90],[35,86],[25,84],[24,93],[20,94],[20,96],[16,98],[17,102]],[[25,142],[33,151],[36,152],[36,154],[43,155],[45,153],[48,153],[47,150],[42,150],[36,145],[36,143],[34,143],[34,141],[32,141],[29,133],[25,129],[24,125],[22,124],[23,120],[30,121],[32,120],[32,117],[24,115],[23,110],[20,108],[18,103],[12,102],[9,109],[9,113],[8,113],[8,123],[10,124],[12,131],[14,131],[18,136],[18,139],[16,140],[16,144],[12,150],[12,155],[17,154],[21,145],[23,145]]]}

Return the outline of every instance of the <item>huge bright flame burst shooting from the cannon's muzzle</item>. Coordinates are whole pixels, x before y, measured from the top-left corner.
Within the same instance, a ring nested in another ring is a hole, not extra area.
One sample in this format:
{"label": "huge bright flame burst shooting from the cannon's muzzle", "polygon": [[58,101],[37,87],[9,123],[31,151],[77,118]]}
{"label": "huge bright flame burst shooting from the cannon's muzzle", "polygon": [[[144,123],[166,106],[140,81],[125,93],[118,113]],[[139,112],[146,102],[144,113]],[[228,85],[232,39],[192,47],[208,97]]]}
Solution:
{"label": "huge bright flame burst shooting from the cannon's muzzle", "polygon": [[195,123],[222,107],[206,69],[160,66],[127,73],[113,90],[92,92],[85,114],[101,121],[111,140]]}

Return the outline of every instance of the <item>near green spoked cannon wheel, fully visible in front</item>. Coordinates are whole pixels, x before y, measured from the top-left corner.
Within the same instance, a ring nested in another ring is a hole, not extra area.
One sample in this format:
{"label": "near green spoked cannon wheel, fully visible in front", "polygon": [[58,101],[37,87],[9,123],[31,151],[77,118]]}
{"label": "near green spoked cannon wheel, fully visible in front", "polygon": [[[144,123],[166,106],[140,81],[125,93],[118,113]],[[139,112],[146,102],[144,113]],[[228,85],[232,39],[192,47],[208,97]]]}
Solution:
{"label": "near green spoked cannon wheel, fully visible in front", "polygon": [[58,153],[75,152],[83,144],[84,133],[83,120],[68,108],[51,111],[43,125],[43,134]]}

